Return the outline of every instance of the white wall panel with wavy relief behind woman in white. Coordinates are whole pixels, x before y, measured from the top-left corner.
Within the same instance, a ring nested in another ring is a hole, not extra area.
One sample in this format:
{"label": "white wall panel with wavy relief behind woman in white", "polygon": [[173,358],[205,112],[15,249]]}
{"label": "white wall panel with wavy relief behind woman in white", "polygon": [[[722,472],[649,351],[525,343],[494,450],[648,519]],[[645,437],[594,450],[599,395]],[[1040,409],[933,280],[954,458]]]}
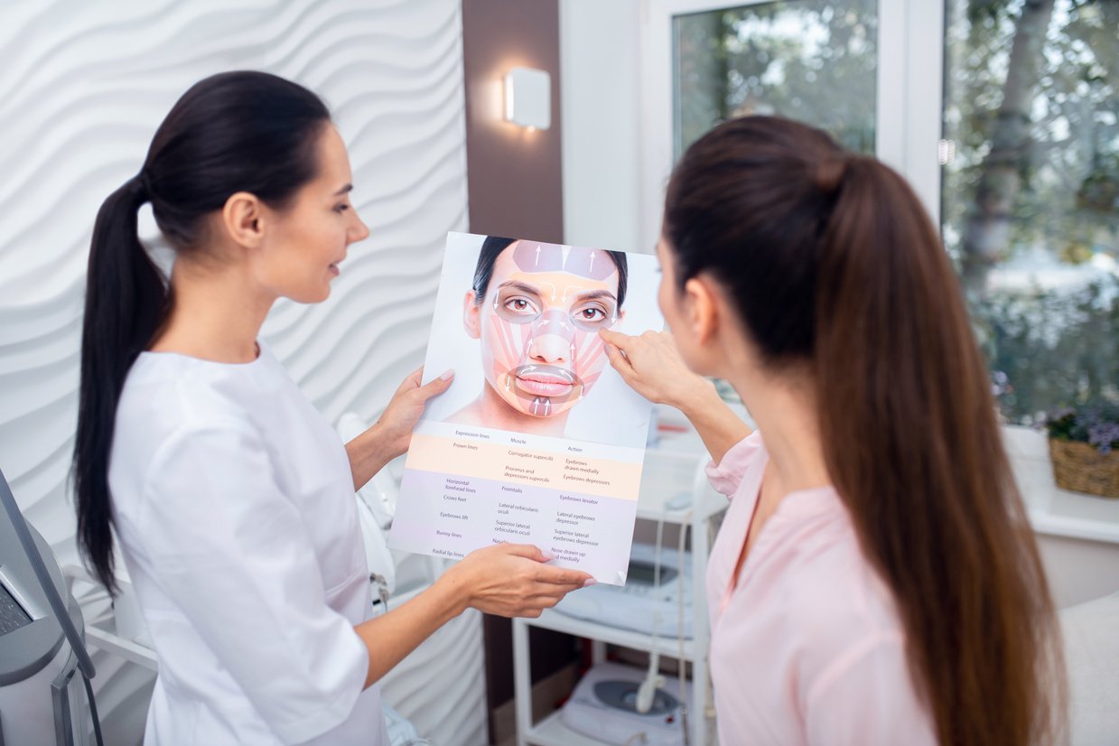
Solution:
{"label": "white wall panel with wavy relief behind woman in white", "polygon": [[[373,419],[422,362],[444,235],[467,227],[461,38],[458,0],[0,3],[0,466],[62,561],[93,219],[175,100],[253,68],[330,105],[372,235],[329,301],[278,304],[264,338],[329,419]],[[103,661],[106,703],[124,707],[134,679]]]}

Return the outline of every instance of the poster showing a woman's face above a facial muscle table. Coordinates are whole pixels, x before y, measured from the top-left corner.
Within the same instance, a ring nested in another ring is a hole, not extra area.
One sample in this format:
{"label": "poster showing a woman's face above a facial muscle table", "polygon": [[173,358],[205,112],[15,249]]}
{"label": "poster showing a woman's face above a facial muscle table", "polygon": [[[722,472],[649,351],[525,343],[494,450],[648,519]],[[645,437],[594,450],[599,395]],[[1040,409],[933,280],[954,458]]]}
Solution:
{"label": "poster showing a woman's face above a facial muscle table", "polygon": [[535,544],[623,584],[651,405],[600,330],[660,329],[656,257],[452,233],[424,362],[454,370],[408,450],[391,546]]}

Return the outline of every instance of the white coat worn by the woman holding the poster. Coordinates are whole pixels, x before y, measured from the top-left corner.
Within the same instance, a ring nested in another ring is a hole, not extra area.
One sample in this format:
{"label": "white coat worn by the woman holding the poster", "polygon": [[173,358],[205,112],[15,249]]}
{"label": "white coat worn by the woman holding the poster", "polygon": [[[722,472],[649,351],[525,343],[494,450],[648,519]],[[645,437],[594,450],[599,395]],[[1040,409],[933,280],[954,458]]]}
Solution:
{"label": "white coat worn by the woman holding the poster", "polygon": [[148,746],[388,743],[349,461],[263,344],[140,355],[109,481],[159,657]]}

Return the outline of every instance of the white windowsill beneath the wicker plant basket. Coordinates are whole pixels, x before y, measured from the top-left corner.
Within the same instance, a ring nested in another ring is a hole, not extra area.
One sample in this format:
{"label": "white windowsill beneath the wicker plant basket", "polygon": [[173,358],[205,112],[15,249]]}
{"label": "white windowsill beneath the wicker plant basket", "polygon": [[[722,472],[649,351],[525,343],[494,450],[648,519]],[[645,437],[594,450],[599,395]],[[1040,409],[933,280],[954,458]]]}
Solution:
{"label": "white windowsill beneath the wicker plant basket", "polygon": [[1035,531],[1119,544],[1119,500],[1057,488],[1044,433],[1007,425],[1003,437]]}

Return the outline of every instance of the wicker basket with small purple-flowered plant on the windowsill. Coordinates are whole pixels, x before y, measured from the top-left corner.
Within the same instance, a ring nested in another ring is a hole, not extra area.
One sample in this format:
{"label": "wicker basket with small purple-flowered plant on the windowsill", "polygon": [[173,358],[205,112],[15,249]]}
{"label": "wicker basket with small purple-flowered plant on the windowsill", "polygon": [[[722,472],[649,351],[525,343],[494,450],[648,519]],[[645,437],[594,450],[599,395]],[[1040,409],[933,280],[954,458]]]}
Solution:
{"label": "wicker basket with small purple-flowered plant on the windowsill", "polygon": [[1119,405],[1057,409],[1043,426],[1057,487],[1119,498]]}

